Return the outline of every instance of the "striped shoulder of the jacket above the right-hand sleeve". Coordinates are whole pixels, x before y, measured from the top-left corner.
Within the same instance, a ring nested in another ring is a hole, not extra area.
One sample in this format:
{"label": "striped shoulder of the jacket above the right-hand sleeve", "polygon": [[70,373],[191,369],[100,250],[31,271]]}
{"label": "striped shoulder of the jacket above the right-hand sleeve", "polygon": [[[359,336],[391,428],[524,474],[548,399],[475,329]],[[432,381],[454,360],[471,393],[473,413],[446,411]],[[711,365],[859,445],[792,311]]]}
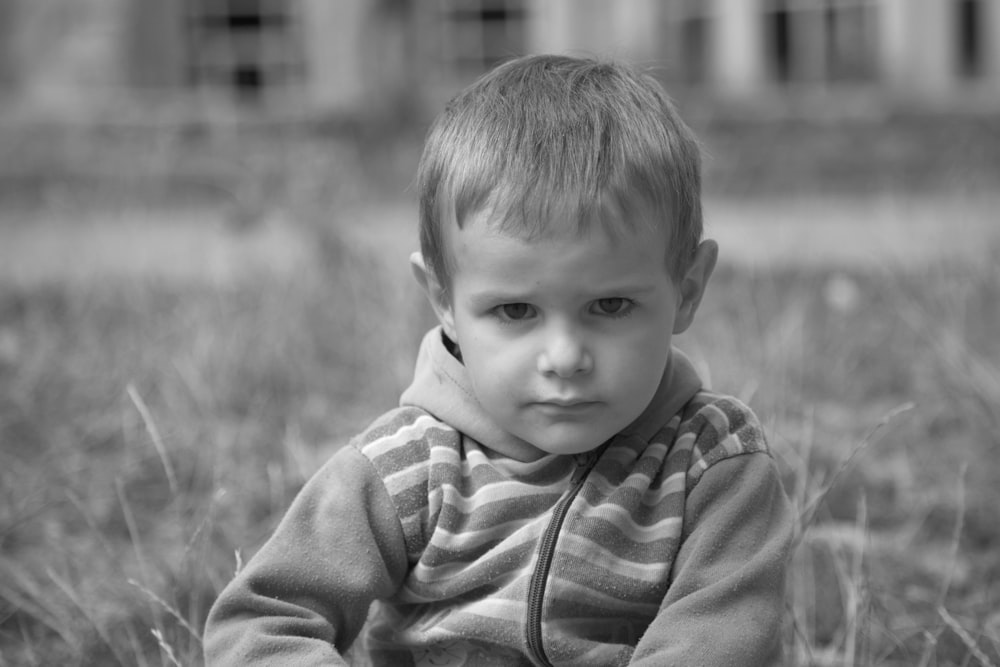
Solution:
{"label": "striped shoulder of the jacket above the right-hand sleeve", "polygon": [[685,406],[677,446],[690,449],[689,484],[720,461],[747,454],[770,456],[757,415],[732,396],[700,391]]}

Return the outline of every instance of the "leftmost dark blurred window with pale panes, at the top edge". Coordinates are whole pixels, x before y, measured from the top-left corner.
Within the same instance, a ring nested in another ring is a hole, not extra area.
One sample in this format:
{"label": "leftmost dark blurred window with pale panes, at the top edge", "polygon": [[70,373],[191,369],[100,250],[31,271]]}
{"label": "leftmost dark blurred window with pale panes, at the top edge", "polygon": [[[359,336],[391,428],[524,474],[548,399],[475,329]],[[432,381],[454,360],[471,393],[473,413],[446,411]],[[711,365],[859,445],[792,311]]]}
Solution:
{"label": "leftmost dark blurred window with pale panes, at the top edge", "polygon": [[296,0],[187,0],[187,80],[240,104],[265,104],[305,75]]}

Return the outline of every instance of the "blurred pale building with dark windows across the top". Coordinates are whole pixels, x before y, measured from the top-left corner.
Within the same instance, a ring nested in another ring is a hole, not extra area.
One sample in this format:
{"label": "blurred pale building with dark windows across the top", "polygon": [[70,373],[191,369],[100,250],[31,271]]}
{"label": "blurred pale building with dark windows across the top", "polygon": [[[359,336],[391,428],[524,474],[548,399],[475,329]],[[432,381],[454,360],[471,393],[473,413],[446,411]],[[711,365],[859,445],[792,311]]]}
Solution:
{"label": "blurred pale building with dark windows across the top", "polygon": [[543,51],[707,103],[1000,110],[1000,0],[0,0],[0,109],[364,116]]}

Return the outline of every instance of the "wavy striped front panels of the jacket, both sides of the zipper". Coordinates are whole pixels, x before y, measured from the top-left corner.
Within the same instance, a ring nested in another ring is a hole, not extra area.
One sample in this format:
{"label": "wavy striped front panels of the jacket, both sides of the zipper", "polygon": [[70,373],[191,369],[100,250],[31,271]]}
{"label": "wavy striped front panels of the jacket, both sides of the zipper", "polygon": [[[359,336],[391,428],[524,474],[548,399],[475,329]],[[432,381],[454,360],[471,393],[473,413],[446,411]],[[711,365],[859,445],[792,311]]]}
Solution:
{"label": "wavy striped front panels of the jacket, both sides of the zipper", "polygon": [[[383,416],[353,446],[385,483],[410,563],[359,640],[371,663],[531,664],[528,582],[574,459],[498,457],[412,407]],[[706,391],[649,441],[617,436],[556,542],[542,602],[548,659],[627,663],[670,584],[688,494],[714,463],[766,451],[749,408]]]}

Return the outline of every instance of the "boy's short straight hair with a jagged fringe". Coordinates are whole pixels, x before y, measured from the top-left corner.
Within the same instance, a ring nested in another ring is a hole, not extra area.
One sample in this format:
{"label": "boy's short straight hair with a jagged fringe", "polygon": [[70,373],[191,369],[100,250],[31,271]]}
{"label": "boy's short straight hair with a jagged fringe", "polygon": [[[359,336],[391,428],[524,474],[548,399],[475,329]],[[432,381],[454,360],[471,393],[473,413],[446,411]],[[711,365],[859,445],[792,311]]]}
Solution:
{"label": "boy's short straight hair with a jagged fringe", "polygon": [[623,63],[525,56],[483,75],[431,126],[417,187],[421,251],[446,288],[443,226],[487,207],[526,238],[555,220],[612,234],[609,219],[633,232],[663,221],[675,277],[701,240],[698,142],[659,82]]}

